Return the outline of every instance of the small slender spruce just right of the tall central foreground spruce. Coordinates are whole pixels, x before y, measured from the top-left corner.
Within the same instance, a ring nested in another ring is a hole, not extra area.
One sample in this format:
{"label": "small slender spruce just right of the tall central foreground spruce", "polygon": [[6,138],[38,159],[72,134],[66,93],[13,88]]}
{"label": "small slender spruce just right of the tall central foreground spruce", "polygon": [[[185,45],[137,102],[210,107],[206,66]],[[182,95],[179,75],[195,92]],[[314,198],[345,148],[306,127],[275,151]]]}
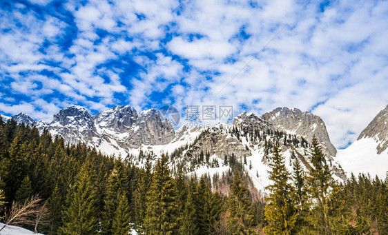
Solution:
{"label": "small slender spruce just right of the tall central foreground spruce", "polygon": [[200,232],[197,226],[197,211],[193,202],[193,193],[189,189],[186,203],[184,205],[184,212],[182,214],[182,225],[180,227],[180,234],[182,235],[197,235]]}

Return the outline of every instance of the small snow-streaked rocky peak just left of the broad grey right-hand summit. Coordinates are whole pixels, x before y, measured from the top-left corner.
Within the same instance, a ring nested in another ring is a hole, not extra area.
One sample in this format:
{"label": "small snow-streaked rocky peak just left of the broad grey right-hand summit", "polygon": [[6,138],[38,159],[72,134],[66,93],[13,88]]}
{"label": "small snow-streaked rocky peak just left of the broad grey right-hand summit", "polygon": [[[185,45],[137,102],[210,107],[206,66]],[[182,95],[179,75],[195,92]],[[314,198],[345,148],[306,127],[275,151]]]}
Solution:
{"label": "small snow-streaked rocky peak just left of the broad grey right-hand summit", "polygon": [[253,127],[258,130],[266,130],[267,128],[273,130],[273,125],[271,123],[260,119],[260,117],[253,114],[253,112],[243,112],[242,114],[239,114],[233,120],[233,125],[237,127]]}

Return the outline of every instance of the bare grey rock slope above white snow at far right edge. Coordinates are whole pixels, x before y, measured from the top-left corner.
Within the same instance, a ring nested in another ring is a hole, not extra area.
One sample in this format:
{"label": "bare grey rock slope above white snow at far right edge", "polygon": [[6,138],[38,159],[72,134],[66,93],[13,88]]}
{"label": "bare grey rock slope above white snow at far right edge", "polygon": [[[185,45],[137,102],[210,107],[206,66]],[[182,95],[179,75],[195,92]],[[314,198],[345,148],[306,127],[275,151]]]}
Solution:
{"label": "bare grey rock slope above white snow at far right edge", "polygon": [[357,140],[372,138],[378,142],[377,153],[381,154],[388,147],[388,105],[362,130]]}

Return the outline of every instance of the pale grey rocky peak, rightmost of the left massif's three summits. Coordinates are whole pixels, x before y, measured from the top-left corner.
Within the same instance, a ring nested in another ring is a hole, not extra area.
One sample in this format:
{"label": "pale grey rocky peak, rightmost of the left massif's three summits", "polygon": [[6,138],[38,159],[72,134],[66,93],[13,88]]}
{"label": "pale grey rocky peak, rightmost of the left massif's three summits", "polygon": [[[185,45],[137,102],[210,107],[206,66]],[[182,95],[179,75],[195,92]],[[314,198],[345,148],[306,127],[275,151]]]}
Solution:
{"label": "pale grey rocky peak, rightmost of the left massif's three summits", "polygon": [[164,145],[175,137],[173,125],[168,120],[162,121],[154,109],[140,112],[135,125],[129,130],[126,143],[130,146]]}

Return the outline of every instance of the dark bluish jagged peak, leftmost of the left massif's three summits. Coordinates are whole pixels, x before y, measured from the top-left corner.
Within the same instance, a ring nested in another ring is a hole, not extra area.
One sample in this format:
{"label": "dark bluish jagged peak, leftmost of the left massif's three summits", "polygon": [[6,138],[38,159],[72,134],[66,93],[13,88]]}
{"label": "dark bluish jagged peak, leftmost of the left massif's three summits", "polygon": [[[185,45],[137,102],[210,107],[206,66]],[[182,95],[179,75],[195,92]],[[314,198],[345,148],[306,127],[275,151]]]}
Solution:
{"label": "dark bluish jagged peak, leftmost of the left massif's three summits", "polygon": [[[43,127],[44,124],[39,125]],[[98,136],[93,117],[80,106],[70,106],[54,115],[46,126],[52,134],[64,137],[66,143],[88,143]]]}

